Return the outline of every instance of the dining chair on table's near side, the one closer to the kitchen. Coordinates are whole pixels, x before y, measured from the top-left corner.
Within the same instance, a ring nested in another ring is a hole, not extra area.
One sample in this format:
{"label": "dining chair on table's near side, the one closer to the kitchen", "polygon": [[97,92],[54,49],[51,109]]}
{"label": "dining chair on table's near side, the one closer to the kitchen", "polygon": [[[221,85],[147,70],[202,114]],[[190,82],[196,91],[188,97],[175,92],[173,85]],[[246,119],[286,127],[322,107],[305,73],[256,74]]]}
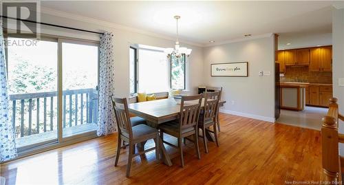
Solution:
{"label": "dining chair on table's near side, the one closer to the kitchen", "polygon": [[[200,118],[198,120],[198,129],[202,130],[202,136],[204,142],[204,150],[208,153],[208,146],[206,141],[206,131],[214,133],[215,143],[219,146],[219,141],[217,140],[217,131],[216,131],[216,117],[217,117],[217,107],[219,104],[219,91],[215,92],[205,92],[203,94],[204,106]],[[213,131],[209,127],[213,126]]]}

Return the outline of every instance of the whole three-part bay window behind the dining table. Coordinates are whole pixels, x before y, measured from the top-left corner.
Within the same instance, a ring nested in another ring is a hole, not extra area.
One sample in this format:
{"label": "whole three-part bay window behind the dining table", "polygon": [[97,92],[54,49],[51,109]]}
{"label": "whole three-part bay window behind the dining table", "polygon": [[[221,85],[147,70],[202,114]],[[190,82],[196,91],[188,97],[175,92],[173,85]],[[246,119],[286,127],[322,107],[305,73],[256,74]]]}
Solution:
{"label": "whole three-part bay window behind the dining table", "polygon": [[129,47],[130,94],[186,89],[186,57],[172,56],[168,61],[163,50],[149,45]]}

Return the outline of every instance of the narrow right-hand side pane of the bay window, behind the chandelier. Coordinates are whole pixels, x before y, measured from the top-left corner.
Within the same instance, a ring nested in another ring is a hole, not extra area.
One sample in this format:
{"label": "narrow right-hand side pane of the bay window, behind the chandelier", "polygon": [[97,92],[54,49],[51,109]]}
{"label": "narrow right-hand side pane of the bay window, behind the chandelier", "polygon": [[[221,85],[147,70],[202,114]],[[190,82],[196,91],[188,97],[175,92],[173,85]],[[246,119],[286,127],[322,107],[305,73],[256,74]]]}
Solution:
{"label": "narrow right-hand side pane of the bay window, behind the chandelier", "polygon": [[185,55],[171,56],[171,89],[185,89]]}

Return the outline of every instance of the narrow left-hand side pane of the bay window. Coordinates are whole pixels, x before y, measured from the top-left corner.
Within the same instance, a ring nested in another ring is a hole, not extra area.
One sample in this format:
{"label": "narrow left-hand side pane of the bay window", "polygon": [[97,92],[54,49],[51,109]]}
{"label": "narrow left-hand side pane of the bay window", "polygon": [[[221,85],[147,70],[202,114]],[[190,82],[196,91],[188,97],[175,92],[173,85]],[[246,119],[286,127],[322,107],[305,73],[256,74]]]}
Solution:
{"label": "narrow left-hand side pane of the bay window", "polygon": [[137,52],[136,48],[129,48],[129,84],[130,84],[130,94],[136,94],[137,91],[137,79],[136,79],[136,60]]}

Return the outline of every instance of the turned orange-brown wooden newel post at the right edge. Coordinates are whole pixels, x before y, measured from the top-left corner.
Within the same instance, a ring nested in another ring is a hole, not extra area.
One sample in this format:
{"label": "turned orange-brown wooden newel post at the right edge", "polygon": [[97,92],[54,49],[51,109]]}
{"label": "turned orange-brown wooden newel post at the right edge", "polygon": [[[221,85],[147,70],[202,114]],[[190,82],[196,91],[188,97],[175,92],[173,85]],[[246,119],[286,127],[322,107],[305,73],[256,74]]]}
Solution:
{"label": "turned orange-brown wooden newel post at the right edge", "polygon": [[344,157],[339,155],[338,142],[344,143],[344,135],[338,133],[338,120],[344,121],[344,116],[338,113],[336,98],[330,99],[327,116],[322,119],[321,145],[323,150],[323,180],[325,182],[341,182],[341,164]]}

